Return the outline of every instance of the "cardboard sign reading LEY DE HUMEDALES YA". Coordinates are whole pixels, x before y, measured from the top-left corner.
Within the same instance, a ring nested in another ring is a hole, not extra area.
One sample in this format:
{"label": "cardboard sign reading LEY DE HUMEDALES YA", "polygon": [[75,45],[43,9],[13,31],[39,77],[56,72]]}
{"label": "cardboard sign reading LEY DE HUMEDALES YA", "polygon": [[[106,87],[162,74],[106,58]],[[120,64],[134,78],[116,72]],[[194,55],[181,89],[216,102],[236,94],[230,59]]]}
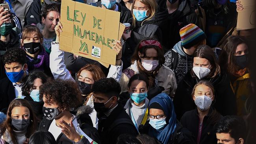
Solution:
{"label": "cardboard sign reading LEY DE HUMEDALES YA", "polygon": [[112,43],[123,32],[119,32],[119,19],[119,12],[63,0],[60,49],[106,65],[115,65],[116,52],[112,50]]}

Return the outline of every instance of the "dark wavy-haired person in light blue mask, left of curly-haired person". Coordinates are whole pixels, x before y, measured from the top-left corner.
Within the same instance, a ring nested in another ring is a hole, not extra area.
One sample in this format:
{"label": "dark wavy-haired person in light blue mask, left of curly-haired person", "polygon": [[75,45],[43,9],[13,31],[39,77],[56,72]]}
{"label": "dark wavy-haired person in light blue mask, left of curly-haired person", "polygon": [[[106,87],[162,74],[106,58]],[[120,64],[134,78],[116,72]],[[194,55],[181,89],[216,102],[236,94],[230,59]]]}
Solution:
{"label": "dark wavy-haired person in light blue mask, left of curly-haired person", "polygon": [[43,117],[43,101],[39,99],[39,87],[47,82],[47,76],[41,71],[33,71],[22,79],[22,95],[32,105],[36,116]]}

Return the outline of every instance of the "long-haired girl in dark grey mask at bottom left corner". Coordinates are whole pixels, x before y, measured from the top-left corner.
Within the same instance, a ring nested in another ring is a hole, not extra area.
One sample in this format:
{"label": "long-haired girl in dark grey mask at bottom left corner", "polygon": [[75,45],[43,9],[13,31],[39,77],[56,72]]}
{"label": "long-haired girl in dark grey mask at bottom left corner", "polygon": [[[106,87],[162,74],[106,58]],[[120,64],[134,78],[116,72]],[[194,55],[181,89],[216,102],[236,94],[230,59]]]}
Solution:
{"label": "long-haired girl in dark grey mask at bottom left corner", "polygon": [[35,131],[37,119],[31,105],[23,99],[13,100],[8,108],[6,120],[0,125],[0,143],[22,144]]}

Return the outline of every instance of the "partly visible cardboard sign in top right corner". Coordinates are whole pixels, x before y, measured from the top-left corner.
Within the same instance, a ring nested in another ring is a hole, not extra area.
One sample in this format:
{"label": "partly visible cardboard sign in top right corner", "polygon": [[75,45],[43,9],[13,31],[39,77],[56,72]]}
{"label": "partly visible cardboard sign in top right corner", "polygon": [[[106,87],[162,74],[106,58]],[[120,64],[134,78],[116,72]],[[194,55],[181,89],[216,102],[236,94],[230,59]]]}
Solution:
{"label": "partly visible cardboard sign in top right corner", "polygon": [[238,11],[237,16],[237,30],[248,30],[255,28],[255,17],[256,11],[255,0],[240,0],[241,4],[243,5],[243,10]]}

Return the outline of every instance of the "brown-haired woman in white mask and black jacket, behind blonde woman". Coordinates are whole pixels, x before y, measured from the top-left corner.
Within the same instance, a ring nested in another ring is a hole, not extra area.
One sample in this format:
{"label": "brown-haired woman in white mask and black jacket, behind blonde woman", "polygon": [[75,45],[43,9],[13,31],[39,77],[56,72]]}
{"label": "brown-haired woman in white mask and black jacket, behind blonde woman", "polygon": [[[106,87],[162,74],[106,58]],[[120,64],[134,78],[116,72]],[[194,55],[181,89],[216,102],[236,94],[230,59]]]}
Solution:
{"label": "brown-haired woman in white mask and black jacket, behind blonde woman", "polygon": [[201,45],[193,54],[193,68],[179,83],[174,96],[174,107],[177,118],[195,108],[195,103],[190,97],[193,87],[201,80],[212,83],[216,90],[215,108],[222,115],[236,114],[236,97],[230,86],[230,81],[225,72],[221,72],[215,59],[215,54],[209,46]]}

